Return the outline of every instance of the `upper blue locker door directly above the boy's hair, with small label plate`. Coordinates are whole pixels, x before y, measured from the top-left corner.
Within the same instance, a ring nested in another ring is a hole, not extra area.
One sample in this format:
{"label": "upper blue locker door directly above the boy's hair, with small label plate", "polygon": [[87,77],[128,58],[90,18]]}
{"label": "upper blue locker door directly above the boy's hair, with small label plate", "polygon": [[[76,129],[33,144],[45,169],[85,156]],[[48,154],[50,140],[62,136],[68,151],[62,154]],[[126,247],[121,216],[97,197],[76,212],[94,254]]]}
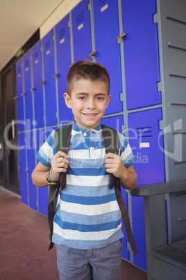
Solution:
{"label": "upper blue locker door directly above the boy's hair, with small label plate", "polygon": [[89,2],[90,0],[83,0],[71,11],[74,62],[90,59],[92,52]]}

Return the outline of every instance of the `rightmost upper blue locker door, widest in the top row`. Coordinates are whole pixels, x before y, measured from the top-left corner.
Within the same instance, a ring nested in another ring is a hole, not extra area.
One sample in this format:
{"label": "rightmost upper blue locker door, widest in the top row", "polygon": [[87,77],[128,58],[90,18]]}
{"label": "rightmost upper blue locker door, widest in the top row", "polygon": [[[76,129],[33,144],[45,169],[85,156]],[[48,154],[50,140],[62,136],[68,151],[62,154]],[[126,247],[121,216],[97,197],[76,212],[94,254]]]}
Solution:
{"label": "rightmost upper blue locker door, widest in the top row", "polygon": [[155,0],[121,0],[127,109],[161,103]]}

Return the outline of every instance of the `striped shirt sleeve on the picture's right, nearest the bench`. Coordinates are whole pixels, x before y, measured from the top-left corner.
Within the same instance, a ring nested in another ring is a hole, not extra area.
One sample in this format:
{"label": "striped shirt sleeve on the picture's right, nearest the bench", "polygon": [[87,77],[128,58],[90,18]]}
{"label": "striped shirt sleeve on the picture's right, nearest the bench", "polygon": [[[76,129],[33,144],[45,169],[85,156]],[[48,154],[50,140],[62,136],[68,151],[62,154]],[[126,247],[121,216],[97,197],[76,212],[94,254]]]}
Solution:
{"label": "striped shirt sleeve on the picture's right, nearest the bench", "polygon": [[130,145],[128,141],[126,140],[126,137],[124,137],[123,134],[118,132],[119,136],[119,148],[120,148],[120,157],[121,160],[126,168],[133,165],[135,162],[135,157],[133,155],[133,151],[130,148]]}

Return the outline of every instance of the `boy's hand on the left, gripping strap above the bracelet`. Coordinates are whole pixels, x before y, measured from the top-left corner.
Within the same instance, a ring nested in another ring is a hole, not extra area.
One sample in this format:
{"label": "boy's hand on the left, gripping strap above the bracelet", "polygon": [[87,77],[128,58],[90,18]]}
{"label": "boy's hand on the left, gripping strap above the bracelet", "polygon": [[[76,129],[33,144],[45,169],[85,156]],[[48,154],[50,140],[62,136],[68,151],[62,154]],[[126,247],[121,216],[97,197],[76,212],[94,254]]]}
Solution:
{"label": "boy's hand on the left, gripping strap above the bracelet", "polygon": [[51,159],[51,175],[56,180],[60,179],[61,172],[67,172],[69,166],[69,156],[62,151],[58,151]]}

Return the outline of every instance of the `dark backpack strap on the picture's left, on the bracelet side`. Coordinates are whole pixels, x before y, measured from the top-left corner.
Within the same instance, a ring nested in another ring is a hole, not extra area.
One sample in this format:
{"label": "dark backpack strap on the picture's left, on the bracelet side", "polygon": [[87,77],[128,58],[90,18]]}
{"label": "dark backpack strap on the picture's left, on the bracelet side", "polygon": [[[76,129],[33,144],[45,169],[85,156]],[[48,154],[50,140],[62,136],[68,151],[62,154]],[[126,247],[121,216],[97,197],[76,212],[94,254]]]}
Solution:
{"label": "dark backpack strap on the picture's left, on the bracelet side", "polygon": [[[71,129],[72,126],[68,125],[65,127],[60,127],[58,130],[55,131],[55,140],[56,140],[56,153],[58,150],[62,150],[64,153],[68,153],[69,150],[69,143],[71,139]],[[56,183],[56,185],[50,185],[49,188],[49,205],[48,205],[48,221],[49,221],[49,229],[50,229],[50,235],[49,239],[51,240],[51,244],[49,246],[49,249],[53,248],[53,242],[52,242],[52,234],[53,234],[53,216],[55,214],[56,210],[56,203],[58,199],[58,194],[60,192],[60,189],[64,189],[66,184],[66,173],[60,173],[60,181]]]}

